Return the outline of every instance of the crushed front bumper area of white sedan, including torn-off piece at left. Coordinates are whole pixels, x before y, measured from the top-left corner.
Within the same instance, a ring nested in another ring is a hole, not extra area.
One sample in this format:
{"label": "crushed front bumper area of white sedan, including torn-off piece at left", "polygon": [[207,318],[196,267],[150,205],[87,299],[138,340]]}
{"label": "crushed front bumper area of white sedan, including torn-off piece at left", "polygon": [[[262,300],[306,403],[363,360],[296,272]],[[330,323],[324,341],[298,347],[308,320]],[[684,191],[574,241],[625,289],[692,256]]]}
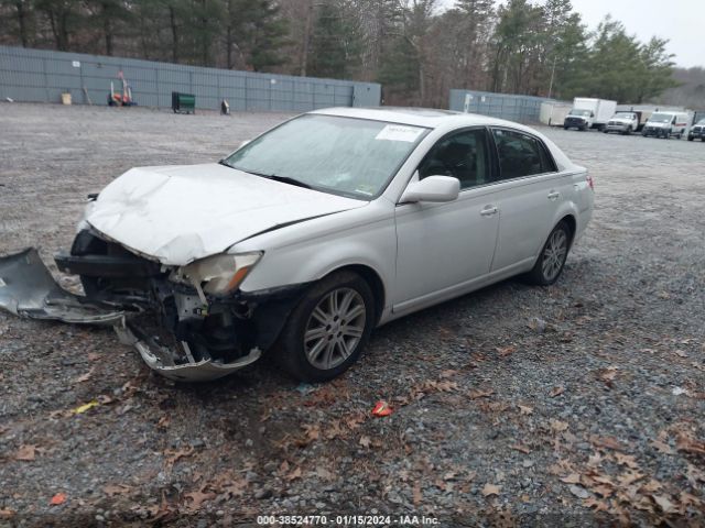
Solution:
{"label": "crushed front bumper area of white sedan, including torn-off piece at left", "polygon": [[[0,257],[0,308],[32,319],[112,326],[153,371],[175,381],[203,382],[257,361],[307,286],[208,296],[203,305],[195,290],[171,284],[159,266],[128,261],[124,255],[115,261],[109,255],[58,256],[59,268],[89,279],[82,296],[62,288],[34,249]],[[147,286],[126,294],[110,285]]]}

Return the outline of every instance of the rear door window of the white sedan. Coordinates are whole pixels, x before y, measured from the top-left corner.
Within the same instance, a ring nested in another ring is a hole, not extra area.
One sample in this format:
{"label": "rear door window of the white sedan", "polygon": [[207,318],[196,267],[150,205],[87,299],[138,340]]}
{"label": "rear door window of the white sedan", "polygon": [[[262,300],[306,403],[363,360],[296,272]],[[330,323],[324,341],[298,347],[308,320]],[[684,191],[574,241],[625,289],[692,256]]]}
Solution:
{"label": "rear door window of the white sedan", "polygon": [[546,147],[535,138],[501,129],[494,129],[492,133],[497,144],[501,179],[556,170]]}

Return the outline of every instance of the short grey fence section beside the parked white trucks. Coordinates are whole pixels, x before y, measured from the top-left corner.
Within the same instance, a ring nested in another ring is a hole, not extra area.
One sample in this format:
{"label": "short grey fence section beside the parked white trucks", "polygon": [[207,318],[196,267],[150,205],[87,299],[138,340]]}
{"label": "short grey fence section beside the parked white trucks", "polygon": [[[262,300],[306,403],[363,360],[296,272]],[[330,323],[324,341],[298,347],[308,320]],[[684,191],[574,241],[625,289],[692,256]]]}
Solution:
{"label": "short grey fence section beside the parked white trucks", "polygon": [[[469,96],[467,109],[466,96]],[[553,100],[545,97],[514,96],[491,91],[451,90],[451,110],[481,113],[518,123],[538,123],[541,103]]]}

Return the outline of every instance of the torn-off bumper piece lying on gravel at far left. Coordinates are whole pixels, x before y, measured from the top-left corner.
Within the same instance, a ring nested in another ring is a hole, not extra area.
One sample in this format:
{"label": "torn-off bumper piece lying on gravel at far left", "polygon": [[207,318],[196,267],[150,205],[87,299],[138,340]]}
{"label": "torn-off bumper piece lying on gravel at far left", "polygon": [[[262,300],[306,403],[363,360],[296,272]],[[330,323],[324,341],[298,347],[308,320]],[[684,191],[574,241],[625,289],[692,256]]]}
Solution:
{"label": "torn-off bumper piece lying on gravel at far left", "polygon": [[30,319],[111,326],[124,312],[62,288],[34,248],[0,257],[0,308]]}

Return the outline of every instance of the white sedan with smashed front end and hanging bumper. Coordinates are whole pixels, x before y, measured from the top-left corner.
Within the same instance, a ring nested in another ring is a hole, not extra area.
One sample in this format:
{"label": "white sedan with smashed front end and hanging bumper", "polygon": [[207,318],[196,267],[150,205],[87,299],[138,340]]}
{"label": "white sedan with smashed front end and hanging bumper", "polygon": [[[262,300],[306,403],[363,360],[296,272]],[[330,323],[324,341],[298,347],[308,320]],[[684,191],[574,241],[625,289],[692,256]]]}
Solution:
{"label": "white sedan with smashed front end and hanging bumper", "polygon": [[34,250],[0,258],[0,307],[113,324],[173,380],[275,354],[332,378],[375,327],[525,274],[554,283],[593,183],[516,123],[422,109],[328,109],[219,163],[128,170],[89,201],[59,288]]}

